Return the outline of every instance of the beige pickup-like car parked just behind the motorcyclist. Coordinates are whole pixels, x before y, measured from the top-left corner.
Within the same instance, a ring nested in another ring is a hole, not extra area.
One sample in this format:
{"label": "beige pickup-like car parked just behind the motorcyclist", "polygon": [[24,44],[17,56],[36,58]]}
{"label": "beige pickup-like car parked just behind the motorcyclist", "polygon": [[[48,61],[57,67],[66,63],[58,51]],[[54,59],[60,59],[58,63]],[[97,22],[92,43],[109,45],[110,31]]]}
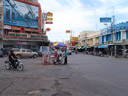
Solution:
{"label": "beige pickup-like car parked just behind the motorcyclist", "polygon": [[19,49],[19,48],[13,48],[14,53],[18,58],[21,57],[33,57],[36,58],[38,56],[37,52],[32,52],[30,49]]}

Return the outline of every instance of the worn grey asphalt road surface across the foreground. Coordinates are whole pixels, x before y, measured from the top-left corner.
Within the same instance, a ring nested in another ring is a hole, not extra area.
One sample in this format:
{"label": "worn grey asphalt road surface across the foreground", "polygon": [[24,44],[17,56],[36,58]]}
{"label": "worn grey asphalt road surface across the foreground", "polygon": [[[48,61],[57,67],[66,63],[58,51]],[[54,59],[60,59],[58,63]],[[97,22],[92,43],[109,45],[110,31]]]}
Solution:
{"label": "worn grey asphalt road surface across the foreground", "polygon": [[0,96],[128,96],[128,59],[86,54],[68,56],[68,65],[22,59],[24,71],[5,70],[0,58]]}

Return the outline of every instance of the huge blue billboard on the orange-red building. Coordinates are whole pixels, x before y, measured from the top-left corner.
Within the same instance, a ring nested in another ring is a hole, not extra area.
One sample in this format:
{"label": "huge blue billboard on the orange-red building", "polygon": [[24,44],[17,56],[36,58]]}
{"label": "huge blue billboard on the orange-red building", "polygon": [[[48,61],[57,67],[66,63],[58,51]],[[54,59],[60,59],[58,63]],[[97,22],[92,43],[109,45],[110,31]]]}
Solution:
{"label": "huge blue billboard on the orange-red building", "polygon": [[38,28],[38,7],[4,0],[4,24]]}

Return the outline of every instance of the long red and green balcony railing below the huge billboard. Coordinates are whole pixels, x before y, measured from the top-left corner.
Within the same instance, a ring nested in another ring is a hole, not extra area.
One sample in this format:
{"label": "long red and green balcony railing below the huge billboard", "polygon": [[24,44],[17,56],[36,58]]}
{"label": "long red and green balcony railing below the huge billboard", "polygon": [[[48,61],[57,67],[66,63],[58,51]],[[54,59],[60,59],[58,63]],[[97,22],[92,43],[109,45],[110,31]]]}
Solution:
{"label": "long red and green balcony railing below the huge billboard", "polygon": [[8,35],[4,35],[4,38],[12,39],[39,39],[39,40],[47,40],[47,36],[45,35],[38,35],[38,34],[26,34],[26,33],[13,33],[10,32]]}

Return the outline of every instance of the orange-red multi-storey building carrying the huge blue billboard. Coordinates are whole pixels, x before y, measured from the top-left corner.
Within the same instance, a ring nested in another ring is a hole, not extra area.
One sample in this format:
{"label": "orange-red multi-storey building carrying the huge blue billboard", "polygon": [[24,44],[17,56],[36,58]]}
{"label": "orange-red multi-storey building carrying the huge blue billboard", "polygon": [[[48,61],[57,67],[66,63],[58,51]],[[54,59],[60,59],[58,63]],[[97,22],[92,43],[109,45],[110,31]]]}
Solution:
{"label": "orange-red multi-storey building carrying the huge blue billboard", "polygon": [[35,48],[48,44],[42,32],[38,0],[0,1],[0,48]]}

